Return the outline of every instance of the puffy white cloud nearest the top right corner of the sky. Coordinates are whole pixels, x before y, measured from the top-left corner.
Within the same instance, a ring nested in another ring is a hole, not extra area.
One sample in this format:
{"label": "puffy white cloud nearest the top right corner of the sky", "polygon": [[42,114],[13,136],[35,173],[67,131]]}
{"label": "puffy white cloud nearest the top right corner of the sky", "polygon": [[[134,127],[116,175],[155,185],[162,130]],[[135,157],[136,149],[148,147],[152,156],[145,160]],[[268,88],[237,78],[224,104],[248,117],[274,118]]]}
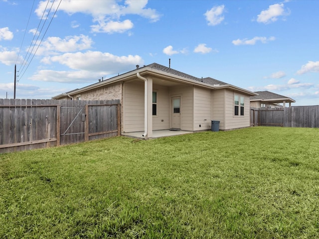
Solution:
{"label": "puffy white cloud nearest the top right corner of the sky", "polygon": [[270,5],[267,10],[262,10],[257,16],[257,21],[262,23],[271,23],[278,20],[279,16],[289,15],[289,11],[285,11],[284,3],[276,3]]}

